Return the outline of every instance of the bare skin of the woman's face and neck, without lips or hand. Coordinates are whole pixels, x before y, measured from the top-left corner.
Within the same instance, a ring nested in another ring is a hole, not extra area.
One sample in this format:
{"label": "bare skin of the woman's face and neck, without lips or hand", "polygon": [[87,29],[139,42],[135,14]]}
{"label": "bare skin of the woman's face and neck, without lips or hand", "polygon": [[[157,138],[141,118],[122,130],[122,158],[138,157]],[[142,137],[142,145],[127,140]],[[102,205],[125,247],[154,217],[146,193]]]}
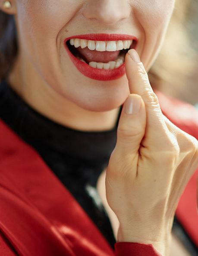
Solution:
{"label": "bare skin of the woman's face and neck, without lips or hand", "polygon": [[[3,1],[0,0],[2,3]],[[11,86],[38,112],[79,130],[109,130],[129,95],[126,75],[97,81],[72,64],[63,40],[87,33],[136,36],[147,70],[156,57],[174,0],[12,0],[19,57]],[[149,19],[148,19],[149,17]],[[157,25],[156,25],[157,24]]]}

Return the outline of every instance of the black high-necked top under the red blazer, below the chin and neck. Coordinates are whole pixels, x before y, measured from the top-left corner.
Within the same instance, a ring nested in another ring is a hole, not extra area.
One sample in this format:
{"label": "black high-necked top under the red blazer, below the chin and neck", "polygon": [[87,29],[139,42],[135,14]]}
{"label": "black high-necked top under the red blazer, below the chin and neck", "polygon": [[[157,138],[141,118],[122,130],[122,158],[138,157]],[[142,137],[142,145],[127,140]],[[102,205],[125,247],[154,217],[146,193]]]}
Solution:
{"label": "black high-necked top under the red blazer, below the chin and neck", "polygon": [[[122,110],[120,107],[119,116]],[[97,194],[96,182],[107,166],[116,145],[116,126],[109,131],[75,130],[44,117],[13,91],[6,81],[0,84],[0,118],[26,143],[33,146],[42,159],[72,193],[85,212],[114,248],[110,220]],[[177,218],[173,232],[192,256],[198,255]]]}

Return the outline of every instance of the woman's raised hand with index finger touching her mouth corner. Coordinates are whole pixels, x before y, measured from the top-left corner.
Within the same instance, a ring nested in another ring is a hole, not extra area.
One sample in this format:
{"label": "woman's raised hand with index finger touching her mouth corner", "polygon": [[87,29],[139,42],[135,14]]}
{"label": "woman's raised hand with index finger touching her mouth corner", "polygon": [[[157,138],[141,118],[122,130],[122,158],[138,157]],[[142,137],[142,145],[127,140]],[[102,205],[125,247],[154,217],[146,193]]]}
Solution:
{"label": "woman's raised hand with index finger touching her mouth corner", "polygon": [[198,141],[163,115],[134,49],[125,65],[131,94],[107,166],[107,201],[119,242],[152,243],[164,255],[179,198],[198,168]]}

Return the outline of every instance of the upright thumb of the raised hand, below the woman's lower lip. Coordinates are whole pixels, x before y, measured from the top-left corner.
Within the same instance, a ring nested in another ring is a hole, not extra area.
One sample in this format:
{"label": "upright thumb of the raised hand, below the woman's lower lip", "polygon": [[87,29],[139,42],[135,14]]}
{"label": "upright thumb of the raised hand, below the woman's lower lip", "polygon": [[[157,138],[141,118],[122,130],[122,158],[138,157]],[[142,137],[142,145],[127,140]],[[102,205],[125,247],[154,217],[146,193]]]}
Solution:
{"label": "upright thumb of the raised hand, below the woman's lower lip", "polygon": [[119,118],[115,150],[124,154],[137,154],[145,127],[145,103],[140,95],[129,94]]}

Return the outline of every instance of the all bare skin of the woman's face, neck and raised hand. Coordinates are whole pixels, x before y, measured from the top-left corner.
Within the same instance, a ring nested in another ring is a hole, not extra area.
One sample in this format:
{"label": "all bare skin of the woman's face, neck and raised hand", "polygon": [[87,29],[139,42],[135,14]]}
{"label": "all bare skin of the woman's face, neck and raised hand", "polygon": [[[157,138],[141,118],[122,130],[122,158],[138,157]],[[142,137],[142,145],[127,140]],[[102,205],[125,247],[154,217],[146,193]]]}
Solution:
{"label": "all bare skin of the woman's face, neck and raised hand", "polygon": [[[113,126],[124,102],[105,180],[108,204],[119,220],[117,239],[152,243],[168,255],[176,206],[198,168],[197,140],[163,116],[147,75],[163,42],[174,1],[12,3],[8,12],[16,15],[20,51],[9,76],[11,85],[42,114],[80,130]],[[83,76],[67,56],[63,39],[92,32],[136,36],[141,61],[130,50],[122,78],[107,82]],[[133,109],[139,101],[138,113],[126,112],[131,100],[136,100]],[[102,126],[94,126],[95,120]]]}

